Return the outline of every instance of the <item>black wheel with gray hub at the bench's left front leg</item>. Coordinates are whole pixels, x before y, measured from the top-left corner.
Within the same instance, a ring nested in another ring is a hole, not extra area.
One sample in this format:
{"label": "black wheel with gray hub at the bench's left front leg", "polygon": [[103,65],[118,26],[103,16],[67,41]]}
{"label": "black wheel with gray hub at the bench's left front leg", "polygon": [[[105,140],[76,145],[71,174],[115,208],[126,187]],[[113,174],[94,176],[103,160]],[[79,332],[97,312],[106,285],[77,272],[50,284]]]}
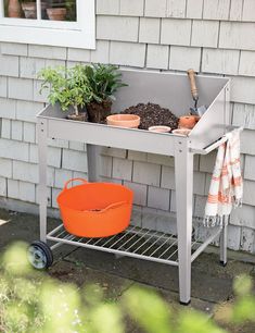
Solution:
{"label": "black wheel with gray hub at the bench's left front leg", "polygon": [[35,240],[29,245],[27,256],[29,263],[37,270],[46,270],[53,262],[50,247],[41,240]]}

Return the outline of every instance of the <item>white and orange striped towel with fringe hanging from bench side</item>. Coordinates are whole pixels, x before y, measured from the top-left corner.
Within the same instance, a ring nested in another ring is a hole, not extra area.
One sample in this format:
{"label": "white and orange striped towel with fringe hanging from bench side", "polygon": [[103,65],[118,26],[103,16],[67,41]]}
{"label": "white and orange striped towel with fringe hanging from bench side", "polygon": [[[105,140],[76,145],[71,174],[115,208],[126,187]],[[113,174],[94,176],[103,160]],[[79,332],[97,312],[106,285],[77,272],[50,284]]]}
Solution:
{"label": "white and orange striped towel with fringe hanging from bench side", "polygon": [[205,226],[227,224],[232,207],[242,205],[243,181],[240,164],[240,130],[226,134],[228,140],[218,148],[205,206]]}

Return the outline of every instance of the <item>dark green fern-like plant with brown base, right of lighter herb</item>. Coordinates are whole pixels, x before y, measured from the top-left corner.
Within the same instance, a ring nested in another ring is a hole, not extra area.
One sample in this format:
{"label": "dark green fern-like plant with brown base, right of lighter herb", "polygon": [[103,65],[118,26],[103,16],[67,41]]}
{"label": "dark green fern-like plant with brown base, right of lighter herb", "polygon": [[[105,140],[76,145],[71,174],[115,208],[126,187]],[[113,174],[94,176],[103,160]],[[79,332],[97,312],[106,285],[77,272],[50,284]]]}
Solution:
{"label": "dark green fern-like plant with brown base, right of lighter herb", "polygon": [[122,82],[122,74],[117,67],[111,64],[92,64],[85,67],[87,79],[92,92],[87,111],[92,123],[104,122],[111,114],[114,92],[118,88],[127,86]]}

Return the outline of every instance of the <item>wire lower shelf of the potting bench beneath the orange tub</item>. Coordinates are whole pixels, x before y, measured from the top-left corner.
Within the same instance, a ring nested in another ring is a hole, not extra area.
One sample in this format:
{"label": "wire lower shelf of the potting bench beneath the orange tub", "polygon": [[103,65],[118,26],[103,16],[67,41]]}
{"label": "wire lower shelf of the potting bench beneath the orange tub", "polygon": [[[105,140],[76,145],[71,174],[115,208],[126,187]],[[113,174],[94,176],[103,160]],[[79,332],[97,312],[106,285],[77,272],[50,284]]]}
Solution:
{"label": "wire lower shelf of the potting bench beneath the orange tub", "polygon": [[[203,243],[201,243],[202,239],[200,239],[200,237],[195,238],[197,229],[193,231],[191,261],[193,261],[203,249],[220,234],[220,227],[216,227],[211,236]],[[47,239],[58,242],[51,246],[52,249],[61,244],[69,244],[115,255],[178,266],[177,236],[139,226],[131,225],[125,232],[111,237],[86,238],[69,234],[64,229],[63,224],[61,224],[47,235]]]}

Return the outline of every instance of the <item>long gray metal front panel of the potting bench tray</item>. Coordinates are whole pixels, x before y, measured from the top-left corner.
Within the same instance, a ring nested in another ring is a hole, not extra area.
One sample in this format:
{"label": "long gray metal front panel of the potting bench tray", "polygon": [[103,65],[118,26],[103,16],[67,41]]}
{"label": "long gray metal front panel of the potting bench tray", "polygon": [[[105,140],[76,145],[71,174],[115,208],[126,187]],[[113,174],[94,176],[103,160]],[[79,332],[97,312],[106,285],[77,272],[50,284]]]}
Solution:
{"label": "long gray metal front panel of the potting bench tray", "polygon": [[[48,111],[50,111],[50,108],[48,107]],[[63,113],[60,110],[59,112]],[[176,137],[169,134],[151,133],[149,131],[60,120],[56,119],[56,115],[49,122],[49,136],[104,147],[169,156],[174,155]]]}

